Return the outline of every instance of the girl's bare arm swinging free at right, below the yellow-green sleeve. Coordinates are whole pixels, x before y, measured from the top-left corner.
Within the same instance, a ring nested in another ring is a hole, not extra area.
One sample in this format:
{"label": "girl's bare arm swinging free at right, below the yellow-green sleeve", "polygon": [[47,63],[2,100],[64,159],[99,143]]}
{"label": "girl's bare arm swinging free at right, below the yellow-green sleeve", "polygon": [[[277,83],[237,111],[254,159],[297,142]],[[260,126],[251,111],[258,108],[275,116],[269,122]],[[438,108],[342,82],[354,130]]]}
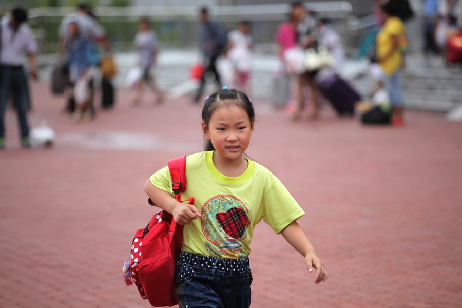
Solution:
{"label": "girl's bare arm swinging free at right, below the yellow-green sleeve", "polygon": [[292,247],[305,257],[308,272],[313,272],[313,267],[316,269],[316,279],[314,282],[316,284],[321,281],[325,282],[328,278],[328,273],[300,225],[296,221],[293,221],[281,231],[281,234]]}

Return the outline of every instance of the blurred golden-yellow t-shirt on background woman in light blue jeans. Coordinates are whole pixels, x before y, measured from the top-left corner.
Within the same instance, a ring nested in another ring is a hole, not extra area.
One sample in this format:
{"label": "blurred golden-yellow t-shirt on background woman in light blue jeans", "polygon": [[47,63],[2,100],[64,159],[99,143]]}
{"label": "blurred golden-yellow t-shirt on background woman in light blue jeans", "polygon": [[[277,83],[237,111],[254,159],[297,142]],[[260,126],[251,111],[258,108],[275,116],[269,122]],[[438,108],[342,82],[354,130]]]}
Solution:
{"label": "blurred golden-yellow t-shirt on background woman in light blue jeans", "polygon": [[398,35],[399,38],[398,48],[390,57],[388,57],[387,60],[380,63],[383,71],[389,76],[393,75],[393,73],[402,65],[401,46],[399,45],[406,41],[404,24],[398,17],[392,16],[387,18],[387,21],[383,24],[382,29],[380,29],[380,32],[377,34],[377,57],[382,57],[390,52],[393,47],[392,36],[394,35]]}

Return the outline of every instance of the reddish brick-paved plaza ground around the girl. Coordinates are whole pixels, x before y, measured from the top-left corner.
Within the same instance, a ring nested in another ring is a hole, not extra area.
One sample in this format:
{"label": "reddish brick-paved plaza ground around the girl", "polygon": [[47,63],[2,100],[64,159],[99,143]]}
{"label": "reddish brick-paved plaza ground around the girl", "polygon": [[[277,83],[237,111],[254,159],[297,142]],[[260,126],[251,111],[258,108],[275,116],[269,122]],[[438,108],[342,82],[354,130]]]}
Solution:
{"label": "reddish brick-paved plaza ground around the girl", "polygon": [[[168,159],[201,150],[200,107],[187,99],[117,107],[71,124],[62,99],[33,85],[32,124],[52,149],[20,149],[13,113],[0,152],[0,307],[148,307],[125,288],[130,241],[156,209],[143,191]],[[313,275],[261,223],[252,307],[460,307],[462,124],[408,112],[407,126],[363,127],[329,109],[293,123],[262,102],[249,155],[307,215],[299,220],[330,273]]]}

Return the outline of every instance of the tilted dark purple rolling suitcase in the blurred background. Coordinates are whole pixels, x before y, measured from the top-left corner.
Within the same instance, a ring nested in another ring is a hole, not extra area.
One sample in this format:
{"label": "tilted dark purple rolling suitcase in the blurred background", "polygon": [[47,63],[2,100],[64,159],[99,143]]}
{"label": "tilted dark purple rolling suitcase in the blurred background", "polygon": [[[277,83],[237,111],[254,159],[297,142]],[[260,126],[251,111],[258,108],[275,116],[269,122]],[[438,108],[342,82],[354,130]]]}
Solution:
{"label": "tilted dark purple rolling suitcase in the blurred background", "polygon": [[339,115],[355,113],[355,103],[361,100],[361,96],[350,84],[334,72],[320,71],[315,81],[321,93],[332,103]]}

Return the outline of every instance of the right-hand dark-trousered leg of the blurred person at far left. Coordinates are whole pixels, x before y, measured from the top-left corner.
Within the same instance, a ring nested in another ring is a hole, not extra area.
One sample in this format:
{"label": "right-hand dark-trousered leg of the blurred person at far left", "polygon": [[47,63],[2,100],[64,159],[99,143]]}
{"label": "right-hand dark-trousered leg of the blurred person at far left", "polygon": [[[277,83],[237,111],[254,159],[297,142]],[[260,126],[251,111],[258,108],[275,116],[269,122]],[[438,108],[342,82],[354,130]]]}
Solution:
{"label": "right-hand dark-trousered leg of the blurred person at far left", "polygon": [[17,108],[17,118],[21,128],[21,142],[29,146],[29,124],[27,123],[27,79],[22,68],[13,69],[11,74],[11,90],[13,104]]}

